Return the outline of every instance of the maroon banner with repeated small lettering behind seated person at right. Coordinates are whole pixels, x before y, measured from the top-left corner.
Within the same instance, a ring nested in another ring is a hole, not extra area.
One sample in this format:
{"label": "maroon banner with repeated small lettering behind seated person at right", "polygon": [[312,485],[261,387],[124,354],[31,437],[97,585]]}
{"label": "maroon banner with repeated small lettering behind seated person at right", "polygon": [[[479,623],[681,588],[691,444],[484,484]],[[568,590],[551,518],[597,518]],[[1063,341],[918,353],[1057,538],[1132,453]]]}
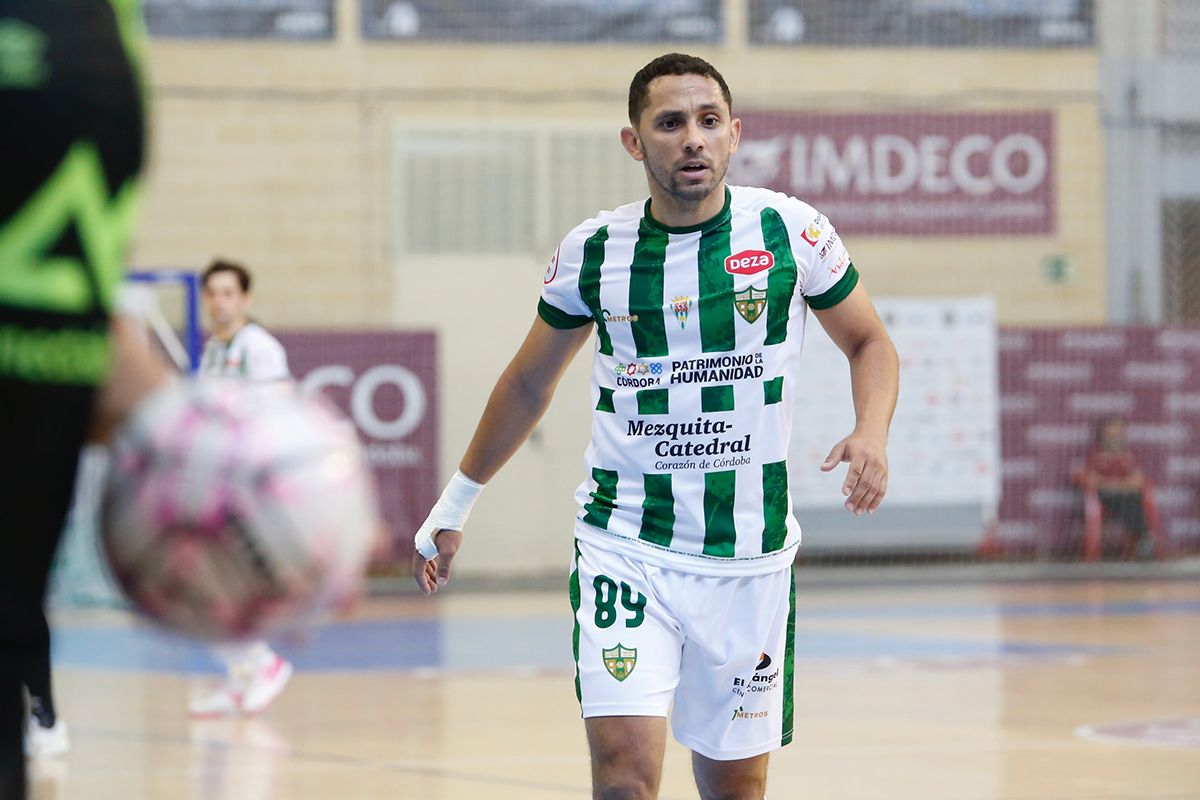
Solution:
{"label": "maroon banner with repeated small lettering behind seated person at right", "polygon": [[1072,480],[1097,425],[1128,423],[1174,547],[1200,542],[1200,329],[1002,329],[1002,548],[1079,552]]}

